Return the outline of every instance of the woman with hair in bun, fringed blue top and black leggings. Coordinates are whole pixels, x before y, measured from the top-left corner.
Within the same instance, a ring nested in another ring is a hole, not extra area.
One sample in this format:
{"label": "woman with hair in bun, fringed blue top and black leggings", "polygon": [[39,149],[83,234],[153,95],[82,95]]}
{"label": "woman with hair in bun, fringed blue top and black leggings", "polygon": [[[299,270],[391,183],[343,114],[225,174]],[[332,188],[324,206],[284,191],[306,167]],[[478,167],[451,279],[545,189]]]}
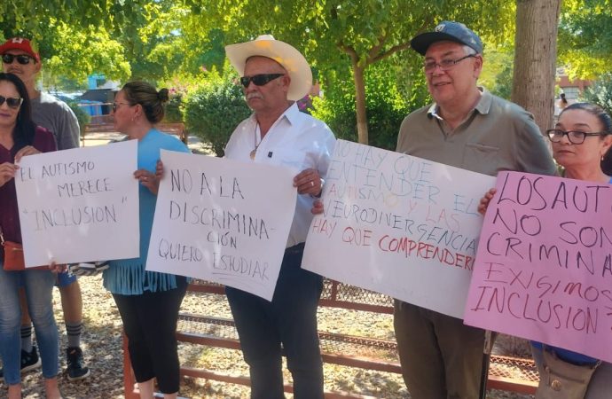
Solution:
{"label": "woman with hair in bun, fringed blue top and black leggings", "polygon": [[122,317],[142,398],[153,398],[153,379],[157,379],[166,398],[177,397],[179,386],[175,332],[186,279],[145,270],[159,188],[154,172],[160,150],[189,152],[176,137],[154,127],[163,119],[163,104],[168,99],[167,89],[158,92],[148,83],[129,82],[117,93],[113,104],[114,129],[138,142],[138,170],[134,177],[140,182],[140,257],[109,262],[103,277]]}

